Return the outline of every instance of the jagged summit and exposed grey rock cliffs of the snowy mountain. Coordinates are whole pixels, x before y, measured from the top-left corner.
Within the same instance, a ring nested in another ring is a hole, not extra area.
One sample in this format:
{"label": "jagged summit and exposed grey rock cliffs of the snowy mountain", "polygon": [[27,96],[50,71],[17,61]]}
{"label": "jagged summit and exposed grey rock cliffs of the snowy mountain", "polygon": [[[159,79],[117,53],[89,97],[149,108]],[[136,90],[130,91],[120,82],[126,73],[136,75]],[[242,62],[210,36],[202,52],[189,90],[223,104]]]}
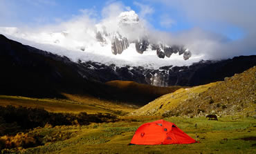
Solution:
{"label": "jagged summit and exposed grey rock cliffs of the snowy mountain", "polygon": [[[111,37],[111,51],[113,55],[122,54],[122,52],[127,49],[131,44],[135,46],[136,51],[140,54],[147,52],[147,50],[154,50],[156,56],[159,58],[170,58],[173,53],[178,53],[183,55],[184,60],[188,60],[192,53],[190,50],[186,49],[184,46],[172,45],[168,46],[164,44],[161,40],[157,43],[150,41],[147,36],[147,32],[143,26],[140,25],[140,19],[134,11],[122,12],[118,17],[118,29],[114,32],[107,32],[104,25],[98,25],[98,31],[96,31],[96,39],[100,42],[105,42]],[[134,38],[129,36],[129,32],[138,31],[144,32],[143,34],[134,34],[138,37]],[[107,33],[109,35],[101,35]]]}

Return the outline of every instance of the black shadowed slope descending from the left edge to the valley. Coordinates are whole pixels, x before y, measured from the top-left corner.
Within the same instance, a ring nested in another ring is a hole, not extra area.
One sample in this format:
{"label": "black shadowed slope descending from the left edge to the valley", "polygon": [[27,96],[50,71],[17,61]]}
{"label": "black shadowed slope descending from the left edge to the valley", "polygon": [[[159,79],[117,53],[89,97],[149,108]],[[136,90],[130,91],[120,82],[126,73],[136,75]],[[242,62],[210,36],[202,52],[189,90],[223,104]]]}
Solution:
{"label": "black shadowed slope descending from the left edge to the valley", "polygon": [[85,68],[67,57],[24,46],[3,35],[0,35],[0,47],[0,95],[66,98],[62,95],[66,93],[138,105],[159,96],[147,97],[148,90],[143,88],[136,97],[131,97],[136,89],[122,91],[120,87],[91,79]]}

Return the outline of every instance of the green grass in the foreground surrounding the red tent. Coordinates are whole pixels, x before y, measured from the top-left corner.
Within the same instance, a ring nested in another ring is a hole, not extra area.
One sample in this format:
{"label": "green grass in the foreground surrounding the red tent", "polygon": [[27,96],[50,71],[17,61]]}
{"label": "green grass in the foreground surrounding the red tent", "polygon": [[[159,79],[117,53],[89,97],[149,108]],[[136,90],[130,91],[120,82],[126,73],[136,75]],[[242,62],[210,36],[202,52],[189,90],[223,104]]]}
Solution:
{"label": "green grass in the foreground surrounding the red tent", "polygon": [[[140,119],[140,117],[138,117]],[[139,122],[116,122],[91,124],[89,126],[63,126],[51,129],[71,131],[70,139],[51,142],[44,146],[29,148],[26,153],[255,153],[255,140],[241,138],[256,137],[256,119],[251,117],[222,117],[219,121],[206,118],[170,117],[190,137],[200,143],[170,145],[128,146],[134,132],[141,124],[154,120],[140,119]],[[195,127],[197,124],[197,127]],[[43,129],[43,128],[42,128]],[[52,130],[53,131],[53,130]],[[197,137],[196,137],[197,135]]]}

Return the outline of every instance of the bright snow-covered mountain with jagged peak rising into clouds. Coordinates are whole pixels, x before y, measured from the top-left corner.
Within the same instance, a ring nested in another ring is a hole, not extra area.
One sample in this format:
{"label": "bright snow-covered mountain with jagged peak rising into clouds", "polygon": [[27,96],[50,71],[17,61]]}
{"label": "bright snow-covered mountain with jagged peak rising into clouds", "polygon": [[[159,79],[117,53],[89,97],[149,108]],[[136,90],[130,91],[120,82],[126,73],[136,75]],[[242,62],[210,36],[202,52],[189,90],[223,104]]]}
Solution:
{"label": "bright snow-covered mountain with jagged peak rising into clouds", "polygon": [[[74,23],[75,24],[75,23]],[[28,31],[0,28],[0,33],[23,44],[65,55],[73,61],[95,61],[117,66],[188,66],[200,61],[185,45],[154,37],[133,10],[93,26],[66,26],[62,30]]]}

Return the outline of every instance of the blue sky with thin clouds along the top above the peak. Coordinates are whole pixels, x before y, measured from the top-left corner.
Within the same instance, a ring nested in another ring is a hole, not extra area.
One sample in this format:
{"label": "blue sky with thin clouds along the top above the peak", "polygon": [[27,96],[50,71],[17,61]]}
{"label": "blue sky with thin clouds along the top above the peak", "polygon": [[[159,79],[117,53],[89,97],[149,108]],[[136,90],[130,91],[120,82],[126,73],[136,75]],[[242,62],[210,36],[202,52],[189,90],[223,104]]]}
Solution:
{"label": "blue sky with thin clouds along the top above the peak", "polygon": [[[246,12],[245,15],[253,13],[248,12],[248,9],[253,9],[255,5],[255,2],[248,1],[251,3],[244,5],[244,8],[242,8],[242,11]],[[80,10],[82,9],[93,10],[95,18],[100,20],[102,19],[102,9],[104,7],[111,3],[122,3],[123,6],[129,7],[140,16],[143,16],[156,30],[173,32],[175,34],[176,32],[182,32],[192,28],[201,28],[232,40],[243,38],[246,34],[246,29],[242,24],[239,24],[242,22],[238,21],[236,24],[236,21],[230,21],[228,19],[232,18],[229,14],[234,14],[234,12],[235,14],[239,13],[236,9],[237,7],[243,7],[241,1],[235,5],[232,3],[236,3],[236,0],[216,0],[213,2],[201,0],[0,0],[0,26],[37,27],[55,24],[80,15]],[[226,2],[230,2],[230,5],[233,6],[225,6]],[[215,10],[215,7],[220,9]],[[215,11],[221,13],[218,14]],[[223,13],[227,15],[223,15]],[[205,18],[208,19],[201,17],[204,14]],[[226,20],[221,16],[227,16]],[[242,18],[240,17],[238,20]]]}

